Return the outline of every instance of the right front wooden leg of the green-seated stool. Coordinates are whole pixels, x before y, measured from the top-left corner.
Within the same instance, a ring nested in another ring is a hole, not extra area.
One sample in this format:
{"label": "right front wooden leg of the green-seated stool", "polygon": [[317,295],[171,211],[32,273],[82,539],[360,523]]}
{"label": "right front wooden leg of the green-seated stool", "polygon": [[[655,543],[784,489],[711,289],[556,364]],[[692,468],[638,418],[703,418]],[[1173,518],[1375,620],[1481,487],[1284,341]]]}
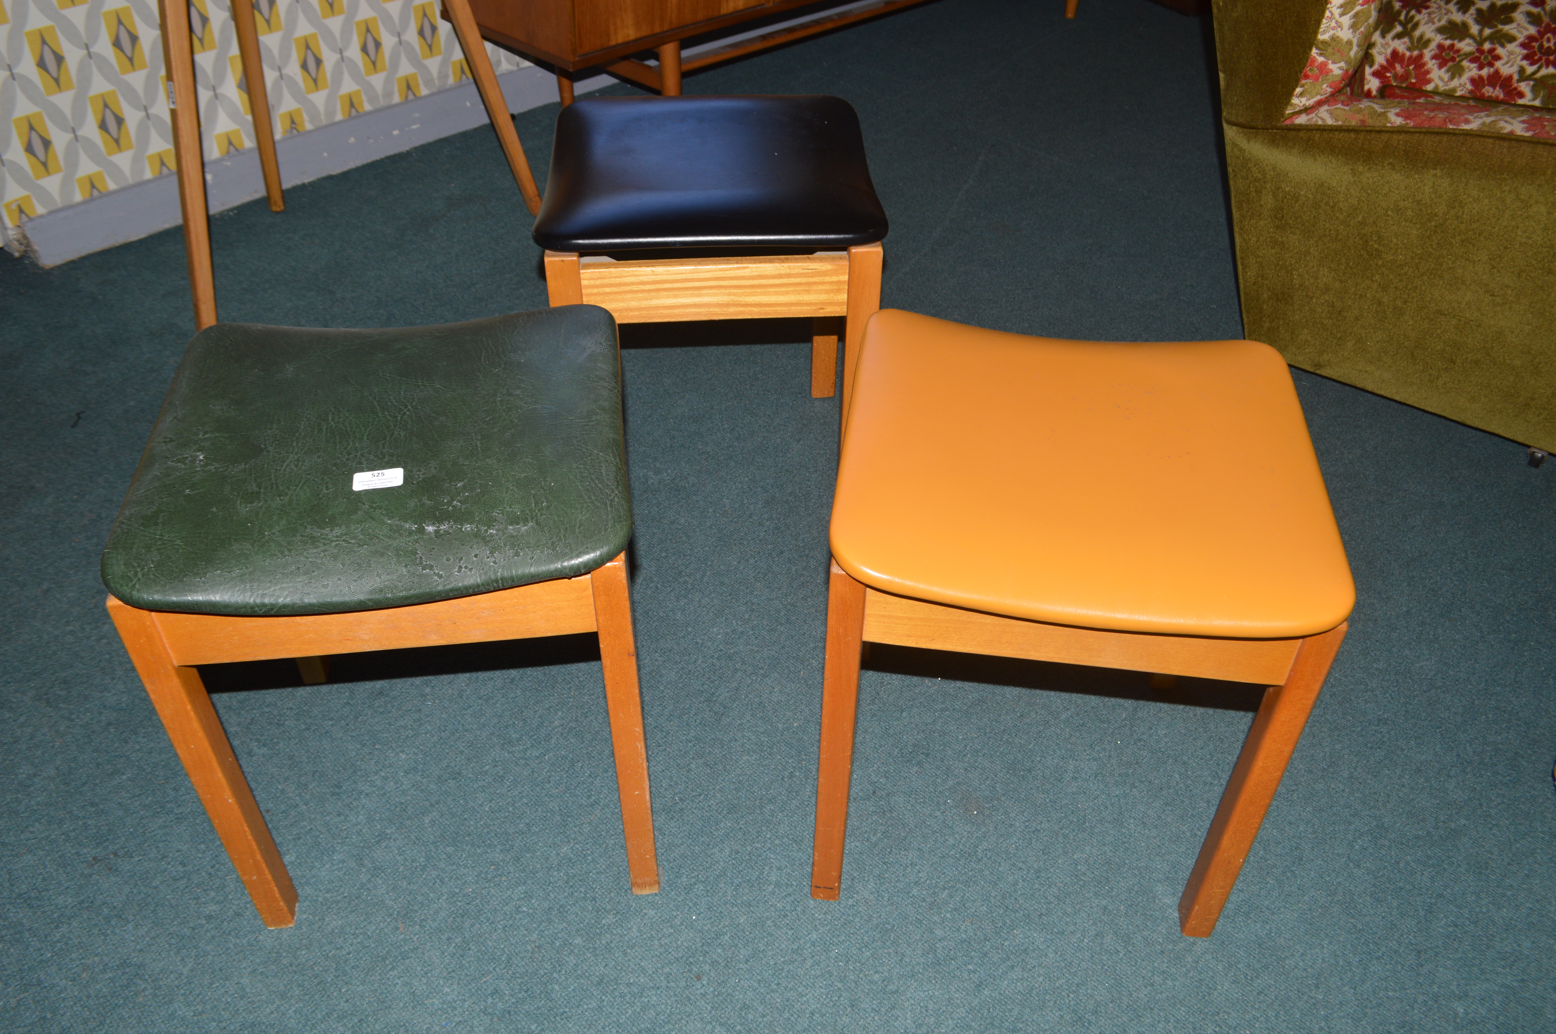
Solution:
{"label": "right front wooden leg of the green-seated stool", "polygon": [[643,742],[643,698],[638,693],[638,651],[632,639],[627,554],[594,571],[590,585],[594,589],[594,624],[599,625],[599,659],[605,669],[610,742],[616,751],[627,871],[633,894],[654,894],[660,889],[660,863],[654,851],[649,756]]}

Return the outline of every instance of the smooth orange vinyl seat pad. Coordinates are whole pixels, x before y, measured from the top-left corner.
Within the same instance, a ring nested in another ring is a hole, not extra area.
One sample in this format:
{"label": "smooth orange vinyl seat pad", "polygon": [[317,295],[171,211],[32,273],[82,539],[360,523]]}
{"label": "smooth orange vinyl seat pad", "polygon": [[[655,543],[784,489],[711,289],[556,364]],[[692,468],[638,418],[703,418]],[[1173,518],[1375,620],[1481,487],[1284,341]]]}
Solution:
{"label": "smooth orange vinyl seat pad", "polygon": [[1355,602],[1268,345],[1057,341],[882,309],[846,418],[832,555],[882,592],[1239,639],[1327,631]]}

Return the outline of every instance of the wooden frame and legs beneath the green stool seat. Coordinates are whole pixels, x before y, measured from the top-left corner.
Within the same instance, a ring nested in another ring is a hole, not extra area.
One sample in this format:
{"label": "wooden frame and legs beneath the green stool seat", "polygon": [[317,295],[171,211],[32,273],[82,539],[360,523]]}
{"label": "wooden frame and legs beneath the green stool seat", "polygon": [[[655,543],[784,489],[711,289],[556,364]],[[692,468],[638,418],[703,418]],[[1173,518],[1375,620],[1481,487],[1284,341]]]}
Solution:
{"label": "wooden frame and legs beneath the green stool seat", "polygon": [[576,578],[377,611],[226,617],[145,611],[112,596],[107,610],[266,927],[293,925],[297,891],[238,768],[198,664],[598,631],[632,893],[660,889],[626,554]]}

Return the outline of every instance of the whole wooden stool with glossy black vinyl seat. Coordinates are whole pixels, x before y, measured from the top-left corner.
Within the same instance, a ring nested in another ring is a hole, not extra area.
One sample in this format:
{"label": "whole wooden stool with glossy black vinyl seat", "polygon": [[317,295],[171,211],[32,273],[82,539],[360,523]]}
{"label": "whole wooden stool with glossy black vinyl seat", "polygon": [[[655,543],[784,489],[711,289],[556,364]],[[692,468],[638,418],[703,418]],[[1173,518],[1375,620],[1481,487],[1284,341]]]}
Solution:
{"label": "whole wooden stool with glossy black vinyl seat", "polygon": [[557,117],[535,243],[551,305],[618,323],[809,316],[811,395],[843,407],[881,308],[887,221],[836,96],[633,96]]}

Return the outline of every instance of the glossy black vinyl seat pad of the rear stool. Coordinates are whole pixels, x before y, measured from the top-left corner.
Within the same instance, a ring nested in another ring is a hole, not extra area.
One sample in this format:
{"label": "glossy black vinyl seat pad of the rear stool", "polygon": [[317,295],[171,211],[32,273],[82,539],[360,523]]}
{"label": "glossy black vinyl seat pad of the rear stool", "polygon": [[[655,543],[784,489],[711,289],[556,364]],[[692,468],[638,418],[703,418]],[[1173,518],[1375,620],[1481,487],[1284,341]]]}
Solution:
{"label": "glossy black vinyl seat pad of the rear stool", "polygon": [[842,249],[885,236],[836,96],[622,96],[557,117],[535,243],[555,252]]}

